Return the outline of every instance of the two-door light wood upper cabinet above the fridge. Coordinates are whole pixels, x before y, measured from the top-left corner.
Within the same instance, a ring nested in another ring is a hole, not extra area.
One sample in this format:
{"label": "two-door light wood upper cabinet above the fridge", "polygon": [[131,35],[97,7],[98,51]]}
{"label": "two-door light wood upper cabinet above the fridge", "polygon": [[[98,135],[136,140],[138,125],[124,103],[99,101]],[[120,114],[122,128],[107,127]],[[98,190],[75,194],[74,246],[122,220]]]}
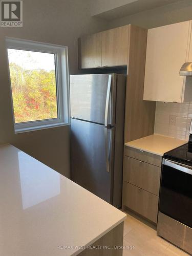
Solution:
{"label": "two-door light wood upper cabinet above the fridge", "polygon": [[78,39],[79,68],[127,65],[129,25]]}

